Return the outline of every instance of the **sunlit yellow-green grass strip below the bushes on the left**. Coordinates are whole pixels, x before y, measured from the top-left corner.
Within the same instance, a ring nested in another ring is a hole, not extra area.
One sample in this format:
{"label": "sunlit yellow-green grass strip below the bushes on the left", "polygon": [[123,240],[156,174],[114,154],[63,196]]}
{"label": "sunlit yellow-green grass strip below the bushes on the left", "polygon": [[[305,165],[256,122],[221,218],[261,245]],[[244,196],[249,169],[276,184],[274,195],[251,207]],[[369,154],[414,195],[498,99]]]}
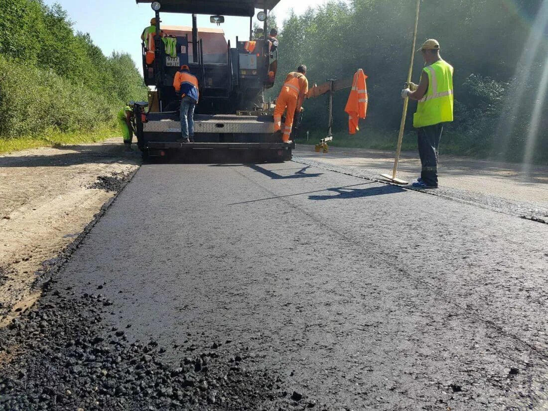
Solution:
{"label": "sunlit yellow-green grass strip below the bushes on the left", "polygon": [[102,127],[93,132],[61,133],[58,130],[49,130],[36,137],[0,138],[0,154],[36,149],[37,147],[54,147],[67,144],[81,144],[83,142],[99,142],[119,135],[119,131],[110,127]]}

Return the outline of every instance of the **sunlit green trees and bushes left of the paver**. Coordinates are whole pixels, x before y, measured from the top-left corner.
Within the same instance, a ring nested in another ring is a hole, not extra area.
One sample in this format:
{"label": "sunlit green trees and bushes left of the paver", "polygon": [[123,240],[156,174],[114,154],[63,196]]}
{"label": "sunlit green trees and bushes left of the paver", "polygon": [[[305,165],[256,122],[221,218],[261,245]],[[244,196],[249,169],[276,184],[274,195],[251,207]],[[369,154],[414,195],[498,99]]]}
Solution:
{"label": "sunlit green trees and bushes left of the paver", "polygon": [[0,0],[0,138],[96,132],[147,89],[128,54],[105,56],[59,4]]}

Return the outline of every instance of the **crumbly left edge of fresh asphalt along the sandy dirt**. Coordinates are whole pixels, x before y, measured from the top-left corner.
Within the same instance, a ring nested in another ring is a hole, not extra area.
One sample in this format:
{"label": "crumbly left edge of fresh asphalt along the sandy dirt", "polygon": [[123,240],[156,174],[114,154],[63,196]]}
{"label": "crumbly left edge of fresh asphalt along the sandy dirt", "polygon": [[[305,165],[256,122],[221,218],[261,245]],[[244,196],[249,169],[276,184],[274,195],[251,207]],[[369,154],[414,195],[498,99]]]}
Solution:
{"label": "crumbly left edge of fresh asphalt along the sandy dirt", "polygon": [[107,210],[109,210],[112,204],[116,201],[120,193],[125,189],[125,187],[129,184],[129,182],[133,180],[133,177],[139,171],[140,168],[141,166],[138,165],[138,167],[133,172],[130,172],[123,179],[122,187],[118,191],[115,191],[115,195],[109,200],[107,200],[101,206],[101,208],[99,209],[99,212],[94,214],[92,221],[90,221],[84,227],[82,232],[78,234],[78,237],[76,237],[74,241],[72,241],[64,249],[62,249],[58,256],[42,262],[42,269],[35,271],[35,275],[37,276],[37,278],[35,279],[35,281],[33,282],[31,286],[32,291],[36,291],[39,289],[43,289],[44,287],[47,287],[49,283],[52,281],[53,277],[57,275],[59,272],[61,272],[61,270],[65,267],[67,262],[71,259],[72,255],[80,247],[80,244],[82,244],[82,242],[84,241],[88,233],[99,222],[102,216],[105,215]]}

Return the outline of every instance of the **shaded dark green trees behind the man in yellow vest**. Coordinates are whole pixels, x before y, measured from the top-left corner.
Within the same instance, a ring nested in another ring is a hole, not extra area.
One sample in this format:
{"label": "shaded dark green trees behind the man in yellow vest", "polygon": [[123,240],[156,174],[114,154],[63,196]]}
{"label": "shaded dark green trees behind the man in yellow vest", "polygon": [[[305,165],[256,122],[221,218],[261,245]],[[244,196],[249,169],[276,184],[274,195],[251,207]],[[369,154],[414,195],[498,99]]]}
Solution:
{"label": "shaded dark green trees behind the man in yellow vest", "polygon": [[[533,66],[543,68],[548,50],[544,43],[539,50],[527,50],[531,25],[523,16],[534,19],[541,1],[504,3],[492,0],[421,3],[418,43],[437,38],[442,45],[442,57],[455,67],[455,122],[447,125],[443,138],[443,144],[452,147],[453,153],[488,156],[496,152],[507,159],[522,158],[532,106],[513,100],[516,88],[523,83],[513,76],[527,75],[525,95],[536,95],[541,69],[538,73],[520,72],[519,56],[524,50],[533,53],[537,56]],[[415,2],[401,0],[331,1],[309,8],[302,15],[290,15],[283,24],[279,76],[269,97],[276,97],[286,73],[299,64],[307,65],[311,85],[328,78],[351,77],[361,67],[369,76],[369,108],[358,138],[375,136],[378,140],[382,138],[379,136],[397,135],[402,110],[400,91],[409,67],[414,16]],[[418,53],[413,71],[415,83],[419,82],[423,64]],[[335,95],[335,130],[347,127],[344,113],[347,96],[346,92]],[[326,97],[320,97],[305,103],[303,130],[325,133],[326,101]],[[501,127],[504,123],[501,119],[504,113],[512,112],[508,108],[512,104],[526,108],[511,114],[516,118],[509,127]],[[407,141],[415,139],[412,127],[415,107],[416,103],[411,102],[404,140],[409,145],[415,144]],[[548,111],[545,112],[546,118],[541,123],[548,127]],[[502,134],[507,135],[501,138]],[[391,143],[391,139],[386,142]],[[540,133],[536,147],[537,161],[548,158],[548,135]]]}

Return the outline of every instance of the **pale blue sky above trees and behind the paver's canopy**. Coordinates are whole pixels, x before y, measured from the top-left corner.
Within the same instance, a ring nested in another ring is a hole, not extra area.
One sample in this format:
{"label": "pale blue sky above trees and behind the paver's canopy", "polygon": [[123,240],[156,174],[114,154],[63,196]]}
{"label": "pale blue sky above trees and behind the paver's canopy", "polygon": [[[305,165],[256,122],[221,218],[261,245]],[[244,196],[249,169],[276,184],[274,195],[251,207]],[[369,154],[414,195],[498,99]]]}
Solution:
{"label": "pale blue sky above trees and behind the paver's canopy", "polygon": [[[278,25],[288,16],[290,9],[295,13],[302,13],[307,7],[315,7],[325,3],[326,0],[306,0],[296,2],[295,0],[281,0],[275,8]],[[141,32],[149,25],[150,19],[154,16],[150,4],[136,4],[135,0],[111,0],[109,2],[89,2],[82,0],[45,0],[46,4],[59,3],[64,8],[70,19],[75,22],[75,30],[89,33],[95,44],[97,44],[106,55],[113,50],[127,52],[132,55],[140,67],[141,55]],[[257,10],[259,11],[259,10]],[[191,26],[190,15],[162,14],[163,24]],[[210,24],[209,16],[198,16],[198,26],[215,27]],[[231,42],[236,36],[246,37],[249,35],[249,19],[238,17],[227,17],[225,24],[221,26],[225,30],[227,38]]]}

